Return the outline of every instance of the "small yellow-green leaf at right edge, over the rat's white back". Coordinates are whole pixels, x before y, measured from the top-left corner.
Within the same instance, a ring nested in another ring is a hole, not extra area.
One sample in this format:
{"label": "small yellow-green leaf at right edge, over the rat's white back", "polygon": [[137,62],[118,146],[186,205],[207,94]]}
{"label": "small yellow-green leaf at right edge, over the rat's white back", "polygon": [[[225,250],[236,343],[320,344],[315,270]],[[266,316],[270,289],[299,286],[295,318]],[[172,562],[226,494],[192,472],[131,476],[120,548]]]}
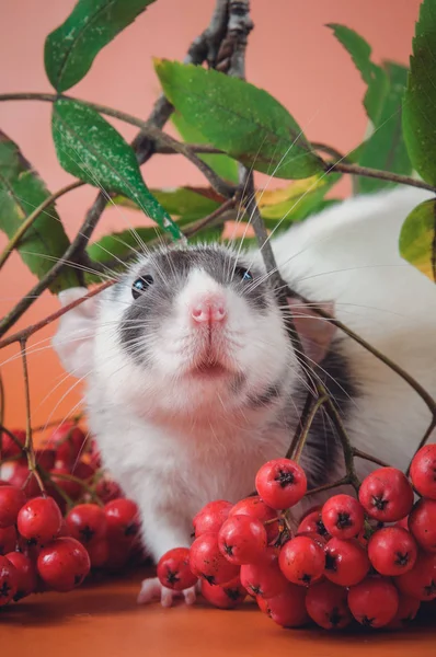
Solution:
{"label": "small yellow-green leaf at right edge, over the rat's white back", "polygon": [[421,203],[405,219],[400,233],[400,254],[436,283],[436,199]]}

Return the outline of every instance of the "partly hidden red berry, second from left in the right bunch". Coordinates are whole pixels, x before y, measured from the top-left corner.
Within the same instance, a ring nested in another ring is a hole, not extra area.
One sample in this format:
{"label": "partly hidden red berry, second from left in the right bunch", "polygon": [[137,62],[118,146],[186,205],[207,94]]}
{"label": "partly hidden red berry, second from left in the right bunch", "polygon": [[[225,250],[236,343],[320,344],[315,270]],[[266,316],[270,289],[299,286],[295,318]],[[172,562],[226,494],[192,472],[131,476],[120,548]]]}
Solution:
{"label": "partly hidden red berry, second from left in the right bunch", "polygon": [[238,566],[229,563],[218,546],[217,533],[204,533],[195,539],[190,550],[191,570],[209,584],[227,584],[239,574]]}

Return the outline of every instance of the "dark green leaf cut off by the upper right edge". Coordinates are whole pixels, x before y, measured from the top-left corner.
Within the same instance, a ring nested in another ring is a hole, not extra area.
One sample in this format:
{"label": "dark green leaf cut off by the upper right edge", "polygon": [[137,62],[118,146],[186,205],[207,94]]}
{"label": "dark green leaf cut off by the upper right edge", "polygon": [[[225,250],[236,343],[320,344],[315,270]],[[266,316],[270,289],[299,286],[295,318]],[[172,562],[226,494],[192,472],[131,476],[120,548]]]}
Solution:
{"label": "dark green leaf cut off by the upper right edge", "polygon": [[403,100],[403,131],[417,173],[436,185],[436,2],[424,0],[412,41],[408,89]]}

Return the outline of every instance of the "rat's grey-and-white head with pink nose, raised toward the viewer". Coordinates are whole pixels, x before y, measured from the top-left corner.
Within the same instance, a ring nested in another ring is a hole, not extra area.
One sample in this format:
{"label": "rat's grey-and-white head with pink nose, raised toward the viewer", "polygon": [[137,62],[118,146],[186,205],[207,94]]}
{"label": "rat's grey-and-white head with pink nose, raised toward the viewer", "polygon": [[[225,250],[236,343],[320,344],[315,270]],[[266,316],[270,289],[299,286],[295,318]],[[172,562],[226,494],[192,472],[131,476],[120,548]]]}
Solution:
{"label": "rat's grey-and-white head with pink nose, raised toward the viewer", "polygon": [[139,414],[265,406],[289,390],[298,365],[255,260],[220,245],[141,256],[99,301],[64,315],[55,348],[70,371]]}

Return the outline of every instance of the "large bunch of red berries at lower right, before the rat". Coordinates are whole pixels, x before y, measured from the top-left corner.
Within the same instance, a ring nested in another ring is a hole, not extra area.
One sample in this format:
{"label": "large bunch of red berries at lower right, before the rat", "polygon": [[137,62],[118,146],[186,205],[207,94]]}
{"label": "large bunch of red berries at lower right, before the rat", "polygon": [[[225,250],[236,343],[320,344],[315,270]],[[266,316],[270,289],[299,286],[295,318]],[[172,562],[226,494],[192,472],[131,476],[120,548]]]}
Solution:
{"label": "large bunch of red berries at lower right, before the rat", "polygon": [[334,495],[295,533],[289,509],[307,493],[300,465],[269,461],[255,484],[257,495],[215,500],[197,514],[191,549],[171,550],[158,564],[163,586],[183,590],[199,579],[215,607],[236,608],[249,595],[284,627],[326,630],[356,621],[400,629],[436,599],[436,445],[416,453],[410,480],[379,468],[358,499]]}

